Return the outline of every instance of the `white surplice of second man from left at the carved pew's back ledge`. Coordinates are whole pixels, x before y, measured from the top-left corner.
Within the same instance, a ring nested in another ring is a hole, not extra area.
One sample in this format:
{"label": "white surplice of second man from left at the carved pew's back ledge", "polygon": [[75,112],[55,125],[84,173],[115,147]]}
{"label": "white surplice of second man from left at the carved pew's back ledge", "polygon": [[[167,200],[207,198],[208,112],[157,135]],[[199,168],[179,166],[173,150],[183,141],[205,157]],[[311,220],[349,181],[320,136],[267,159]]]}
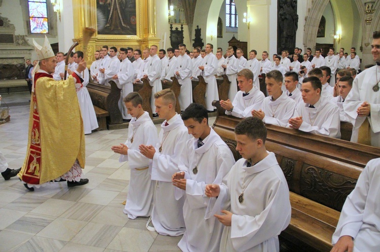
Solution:
{"label": "white surplice of second man from left at the carved pew's back ledge", "polygon": [[261,110],[265,113],[262,120],[266,124],[286,127],[290,118],[293,117],[296,103],[285,92],[280,97],[272,100],[272,95],[267,96],[261,103]]}

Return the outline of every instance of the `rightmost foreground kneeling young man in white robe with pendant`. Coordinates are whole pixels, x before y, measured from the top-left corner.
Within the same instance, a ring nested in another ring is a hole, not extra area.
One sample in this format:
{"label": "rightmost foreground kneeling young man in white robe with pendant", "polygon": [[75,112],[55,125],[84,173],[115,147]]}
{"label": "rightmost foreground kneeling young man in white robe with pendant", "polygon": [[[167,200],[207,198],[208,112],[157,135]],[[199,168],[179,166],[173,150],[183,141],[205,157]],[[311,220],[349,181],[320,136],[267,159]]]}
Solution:
{"label": "rightmost foreground kneeling young man in white robe with pendant", "polygon": [[291,217],[289,188],[275,154],[265,149],[266,138],[260,119],[241,121],[235,139],[243,158],[231,168],[225,184],[206,185],[205,194],[217,197],[215,204],[210,199],[207,214],[217,213],[214,216],[225,226],[220,251],[280,249],[278,235]]}

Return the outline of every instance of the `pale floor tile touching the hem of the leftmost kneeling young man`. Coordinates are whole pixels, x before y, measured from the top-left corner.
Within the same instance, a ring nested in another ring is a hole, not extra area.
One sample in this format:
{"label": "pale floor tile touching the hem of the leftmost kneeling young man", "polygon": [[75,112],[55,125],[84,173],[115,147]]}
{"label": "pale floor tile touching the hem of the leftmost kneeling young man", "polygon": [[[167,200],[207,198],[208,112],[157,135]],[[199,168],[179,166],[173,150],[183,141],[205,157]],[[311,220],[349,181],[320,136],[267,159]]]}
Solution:
{"label": "pale floor tile touching the hem of the leftmost kneeling young man", "polygon": [[124,227],[129,219],[123,213],[123,209],[124,205],[122,204],[120,204],[119,208],[106,206],[91,222]]}

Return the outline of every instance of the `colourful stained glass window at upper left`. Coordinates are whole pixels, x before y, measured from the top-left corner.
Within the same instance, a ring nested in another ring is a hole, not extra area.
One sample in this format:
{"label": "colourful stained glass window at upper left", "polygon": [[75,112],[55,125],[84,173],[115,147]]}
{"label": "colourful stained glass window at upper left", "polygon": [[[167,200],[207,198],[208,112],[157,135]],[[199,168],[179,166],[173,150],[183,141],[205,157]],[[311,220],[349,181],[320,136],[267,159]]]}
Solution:
{"label": "colourful stained glass window at upper left", "polygon": [[31,33],[49,33],[46,0],[28,0]]}

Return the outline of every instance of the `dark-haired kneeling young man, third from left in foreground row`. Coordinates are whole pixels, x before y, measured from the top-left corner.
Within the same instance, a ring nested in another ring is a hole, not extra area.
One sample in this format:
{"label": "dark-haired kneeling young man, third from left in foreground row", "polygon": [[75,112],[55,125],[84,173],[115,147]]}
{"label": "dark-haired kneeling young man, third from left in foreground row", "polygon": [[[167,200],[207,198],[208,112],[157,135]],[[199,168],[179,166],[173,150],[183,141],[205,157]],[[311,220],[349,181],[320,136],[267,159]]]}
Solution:
{"label": "dark-haired kneeling young man, third from left in foreground row", "polygon": [[200,104],[191,104],[182,120],[193,138],[187,140],[172,177],[176,198],[186,195],[183,218],[186,231],[178,246],[182,251],[219,251],[223,225],[215,217],[205,218],[209,198],[206,184],[221,184],[235,164],[227,144],[208,125],[208,114]]}

